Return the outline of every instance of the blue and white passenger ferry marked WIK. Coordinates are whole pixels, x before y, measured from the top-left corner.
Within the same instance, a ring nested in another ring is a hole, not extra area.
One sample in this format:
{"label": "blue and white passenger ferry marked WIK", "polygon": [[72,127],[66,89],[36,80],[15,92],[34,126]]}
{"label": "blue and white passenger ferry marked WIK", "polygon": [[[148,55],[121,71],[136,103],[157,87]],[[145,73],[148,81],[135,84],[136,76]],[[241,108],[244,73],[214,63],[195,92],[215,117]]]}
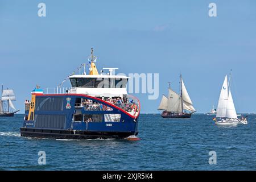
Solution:
{"label": "blue and white passenger ferry marked WIK", "polygon": [[118,68],[96,68],[93,49],[89,74],[68,77],[72,87],[64,93],[45,94],[39,86],[32,90],[31,102],[20,127],[22,137],[94,139],[127,138],[138,135],[141,105],[127,94],[129,77],[115,75]]}

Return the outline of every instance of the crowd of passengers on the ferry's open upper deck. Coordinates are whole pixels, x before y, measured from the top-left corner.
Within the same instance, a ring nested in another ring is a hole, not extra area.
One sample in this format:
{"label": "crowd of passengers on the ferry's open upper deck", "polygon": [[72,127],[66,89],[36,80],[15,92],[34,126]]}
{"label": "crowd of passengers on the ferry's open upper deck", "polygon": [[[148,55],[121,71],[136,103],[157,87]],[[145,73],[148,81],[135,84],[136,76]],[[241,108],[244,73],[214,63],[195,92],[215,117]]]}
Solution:
{"label": "crowd of passengers on the ferry's open upper deck", "polygon": [[[125,100],[123,100],[123,98],[105,98],[105,101],[118,106],[127,112],[136,113],[138,111],[138,106],[134,101],[127,98],[125,98]],[[81,104],[86,110],[112,110],[112,108],[106,105],[87,99],[82,99]]]}

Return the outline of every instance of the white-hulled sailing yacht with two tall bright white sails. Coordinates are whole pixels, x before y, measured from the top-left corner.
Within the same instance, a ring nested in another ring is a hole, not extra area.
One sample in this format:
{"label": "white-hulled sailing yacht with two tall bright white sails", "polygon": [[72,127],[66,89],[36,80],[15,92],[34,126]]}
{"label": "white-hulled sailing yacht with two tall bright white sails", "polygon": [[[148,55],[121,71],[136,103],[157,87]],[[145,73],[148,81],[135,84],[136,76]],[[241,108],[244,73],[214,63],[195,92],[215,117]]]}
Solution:
{"label": "white-hulled sailing yacht with two tall bright white sails", "polygon": [[222,126],[236,126],[238,122],[247,124],[246,118],[237,118],[237,112],[234,106],[227,75],[225,76],[220,98],[218,99],[216,118],[214,118],[213,121],[215,121],[216,125]]}

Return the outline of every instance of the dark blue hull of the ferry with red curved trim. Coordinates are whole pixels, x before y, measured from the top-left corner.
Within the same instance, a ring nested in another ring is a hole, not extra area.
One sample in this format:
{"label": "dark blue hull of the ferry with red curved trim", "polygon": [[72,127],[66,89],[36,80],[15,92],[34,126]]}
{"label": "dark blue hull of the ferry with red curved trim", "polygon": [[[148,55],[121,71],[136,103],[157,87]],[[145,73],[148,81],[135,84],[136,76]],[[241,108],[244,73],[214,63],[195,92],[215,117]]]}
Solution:
{"label": "dark blue hull of the ferry with red curved trim", "polygon": [[[92,100],[111,108],[111,110],[87,110],[86,107],[75,107],[77,98]],[[49,109],[44,106],[47,102],[50,103],[48,104]],[[125,110],[96,97],[84,94],[40,95],[36,96],[34,106],[34,116],[25,119],[23,127],[20,128],[22,137],[94,139],[127,138],[130,135],[138,135],[139,114],[135,117]],[[102,121],[74,121],[73,115],[77,113],[100,116]],[[105,115],[111,114],[119,114],[119,121],[106,121]]]}

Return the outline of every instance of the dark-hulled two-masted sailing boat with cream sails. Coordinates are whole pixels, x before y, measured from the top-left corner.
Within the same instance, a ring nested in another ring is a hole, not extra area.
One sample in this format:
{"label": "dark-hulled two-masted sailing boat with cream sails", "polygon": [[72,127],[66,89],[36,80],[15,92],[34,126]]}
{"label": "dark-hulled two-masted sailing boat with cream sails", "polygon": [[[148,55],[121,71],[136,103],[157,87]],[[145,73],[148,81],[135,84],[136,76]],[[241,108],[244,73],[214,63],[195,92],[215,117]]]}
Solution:
{"label": "dark-hulled two-masted sailing boat with cream sails", "polygon": [[[191,118],[191,115],[196,112],[181,75],[180,88],[180,94],[177,94],[169,85],[168,97],[163,95],[158,107],[158,110],[163,110],[161,114],[163,118]],[[184,110],[191,111],[191,113],[187,113]]]}

